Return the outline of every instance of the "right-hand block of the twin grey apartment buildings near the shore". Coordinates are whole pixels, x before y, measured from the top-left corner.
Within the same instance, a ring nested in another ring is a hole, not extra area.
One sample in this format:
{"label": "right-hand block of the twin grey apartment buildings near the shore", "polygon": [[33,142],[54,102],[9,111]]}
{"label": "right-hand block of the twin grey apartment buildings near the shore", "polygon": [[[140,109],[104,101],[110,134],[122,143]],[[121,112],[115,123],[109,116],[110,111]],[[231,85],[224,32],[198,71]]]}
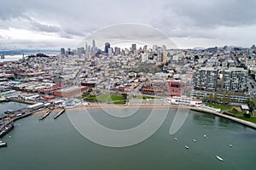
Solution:
{"label": "right-hand block of the twin grey apartment buildings near the shore", "polygon": [[247,91],[248,71],[243,68],[230,68],[224,70],[223,90],[237,93]]}

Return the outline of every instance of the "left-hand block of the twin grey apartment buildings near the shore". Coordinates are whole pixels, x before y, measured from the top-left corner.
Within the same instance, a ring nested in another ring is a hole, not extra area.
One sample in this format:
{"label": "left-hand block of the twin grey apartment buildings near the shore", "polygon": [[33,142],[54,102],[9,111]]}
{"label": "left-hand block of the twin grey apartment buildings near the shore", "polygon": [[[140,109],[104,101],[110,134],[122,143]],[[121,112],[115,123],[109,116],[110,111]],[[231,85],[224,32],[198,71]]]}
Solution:
{"label": "left-hand block of the twin grey apartment buildings near the shore", "polygon": [[196,90],[216,91],[218,70],[204,67],[196,71],[194,78]]}

